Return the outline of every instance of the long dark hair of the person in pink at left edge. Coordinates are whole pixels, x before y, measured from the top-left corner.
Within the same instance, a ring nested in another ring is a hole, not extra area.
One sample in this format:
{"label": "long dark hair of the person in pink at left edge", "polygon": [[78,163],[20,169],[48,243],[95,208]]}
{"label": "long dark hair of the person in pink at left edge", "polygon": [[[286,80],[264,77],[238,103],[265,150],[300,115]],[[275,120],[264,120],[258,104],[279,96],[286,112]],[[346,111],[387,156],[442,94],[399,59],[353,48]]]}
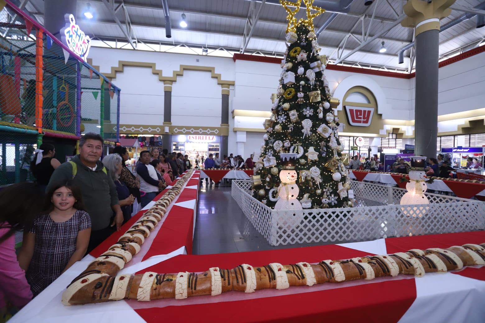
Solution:
{"label": "long dark hair of the person in pink at left edge", "polygon": [[17,183],[0,190],[0,228],[9,231],[0,237],[0,244],[15,231],[29,230],[42,212],[44,194],[37,184]]}

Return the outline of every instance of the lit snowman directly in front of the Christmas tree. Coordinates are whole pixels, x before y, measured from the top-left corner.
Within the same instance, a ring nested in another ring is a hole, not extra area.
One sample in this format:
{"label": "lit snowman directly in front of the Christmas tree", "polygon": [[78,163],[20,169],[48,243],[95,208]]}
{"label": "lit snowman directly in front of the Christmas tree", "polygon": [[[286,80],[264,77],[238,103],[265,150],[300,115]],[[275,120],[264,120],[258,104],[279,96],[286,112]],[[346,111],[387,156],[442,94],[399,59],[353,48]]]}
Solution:
{"label": "lit snowman directly in front of the Christmas tree", "polygon": [[[298,198],[300,189],[296,185],[298,174],[295,170],[296,154],[280,154],[283,159],[283,169],[279,172],[281,184],[278,187],[278,197],[275,210],[302,210]],[[270,195],[271,196],[271,195]]]}

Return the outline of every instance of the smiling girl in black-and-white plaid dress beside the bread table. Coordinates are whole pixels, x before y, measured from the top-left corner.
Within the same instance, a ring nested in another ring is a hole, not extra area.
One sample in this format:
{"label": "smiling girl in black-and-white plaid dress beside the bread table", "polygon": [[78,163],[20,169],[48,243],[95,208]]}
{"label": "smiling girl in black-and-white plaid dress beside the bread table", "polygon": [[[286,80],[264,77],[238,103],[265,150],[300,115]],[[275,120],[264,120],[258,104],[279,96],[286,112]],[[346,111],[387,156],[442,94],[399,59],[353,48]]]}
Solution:
{"label": "smiling girl in black-and-white plaid dress beside the bread table", "polygon": [[54,186],[47,197],[47,212],[24,234],[19,257],[34,296],[82,259],[91,234],[89,215],[81,210],[81,191],[71,180]]}

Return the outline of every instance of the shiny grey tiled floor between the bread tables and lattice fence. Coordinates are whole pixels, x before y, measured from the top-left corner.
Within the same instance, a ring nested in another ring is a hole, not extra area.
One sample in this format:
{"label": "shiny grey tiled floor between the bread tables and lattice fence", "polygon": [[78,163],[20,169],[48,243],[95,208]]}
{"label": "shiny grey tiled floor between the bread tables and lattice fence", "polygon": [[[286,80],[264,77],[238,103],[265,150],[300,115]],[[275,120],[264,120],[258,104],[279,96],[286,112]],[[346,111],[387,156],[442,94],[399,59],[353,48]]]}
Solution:
{"label": "shiny grey tiled floor between the bread tables and lattice fence", "polygon": [[317,246],[322,243],[270,246],[242,213],[231,197],[229,185],[200,187],[194,232],[194,254],[243,252]]}

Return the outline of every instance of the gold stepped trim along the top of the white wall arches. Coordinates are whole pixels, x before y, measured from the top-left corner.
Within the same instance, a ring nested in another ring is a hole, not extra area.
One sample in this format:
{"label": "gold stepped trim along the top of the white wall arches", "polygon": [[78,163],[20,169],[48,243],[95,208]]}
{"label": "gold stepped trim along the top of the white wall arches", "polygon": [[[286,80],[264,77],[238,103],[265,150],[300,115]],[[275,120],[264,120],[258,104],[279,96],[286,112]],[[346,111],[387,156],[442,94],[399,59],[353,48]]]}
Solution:
{"label": "gold stepped trim along the top of the white wall arches", "polygon": [[[198,66],[198,65],[180,65],[178,71],[173,71],[171,77],[164,77],[162,75],[162,70],[158,70],[155,67],[155,63],[151,62],[133,62],[133,61],[118,61],[118,66],[111,67],[111,73],[104,74],[105,77],[110,79],[116,78],[117,73],[122,73],[125,67],[145,67],[151,68],[153,75],[158,75],[159,81],[172,81],[176,82],[177,77],[183,76],[184,71],[201,71],[210,72],[210,77],[217,79],[217,84],[219,85],[234,85],[234,81],[223,80],[221,74],[215,73],[215,67],[212,66]],[[168,85],[168,84],[165,84]]]}

